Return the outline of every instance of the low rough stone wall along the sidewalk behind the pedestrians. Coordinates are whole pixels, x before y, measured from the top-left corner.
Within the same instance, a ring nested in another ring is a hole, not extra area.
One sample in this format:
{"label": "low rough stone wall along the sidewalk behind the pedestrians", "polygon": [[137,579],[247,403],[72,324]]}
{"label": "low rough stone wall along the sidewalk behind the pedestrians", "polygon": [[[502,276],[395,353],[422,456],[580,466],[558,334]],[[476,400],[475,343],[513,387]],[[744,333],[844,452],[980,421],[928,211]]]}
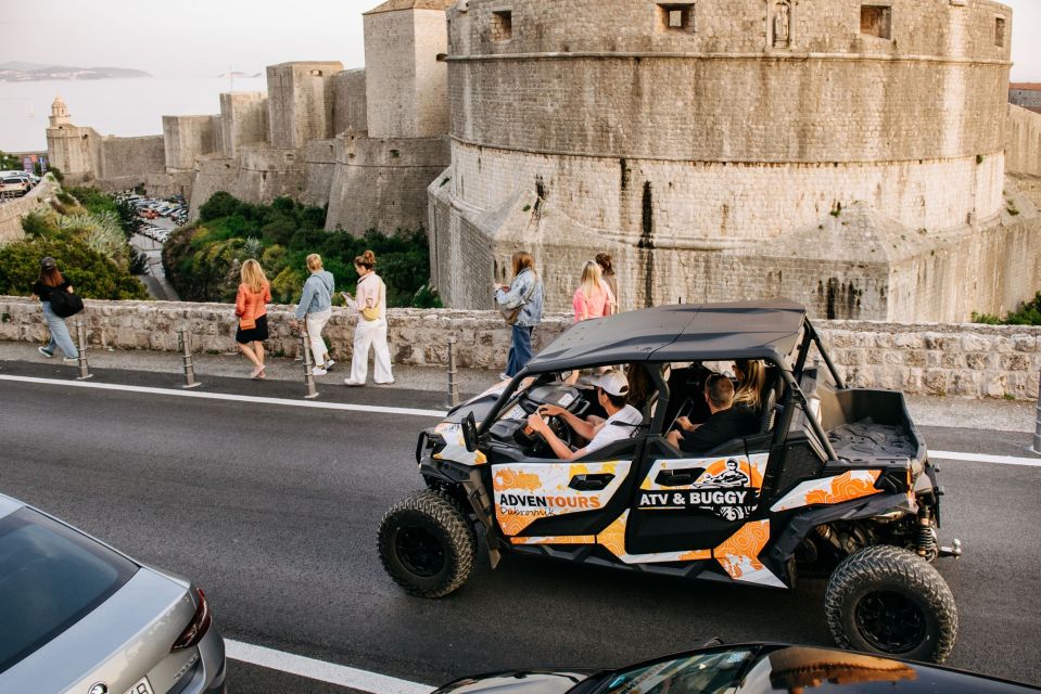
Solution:
{"label": "low rough stone wall along the sidewalk behind the pedestrians", "polygon": [[[87,325],[92,345],[115,349],[176,351],[177,331],[187,329],[198,351],[234,350],[236,319],[227,304],[173,301],[94,301],[72,319]],[[276,355],[295,355],[299,339],[289,327],[291,307],[268,311]],[[348,359],[355,318],[333,309],[325,335],[333,356]],[[550,316],[535,330],[537,351],[571,325],[568,316]],[[899,388],[910,394],[1033,400],[1041,368],[1041,327],[869,321],[815,323],[851,385]],[[447,338],[458,340],[464,368],[500,370],[510,331],[495,311],[391,309],[389,342],[394,363],[443,367]],[[47,327],[39,304],[0,297],[0,339],[42,343]]]}

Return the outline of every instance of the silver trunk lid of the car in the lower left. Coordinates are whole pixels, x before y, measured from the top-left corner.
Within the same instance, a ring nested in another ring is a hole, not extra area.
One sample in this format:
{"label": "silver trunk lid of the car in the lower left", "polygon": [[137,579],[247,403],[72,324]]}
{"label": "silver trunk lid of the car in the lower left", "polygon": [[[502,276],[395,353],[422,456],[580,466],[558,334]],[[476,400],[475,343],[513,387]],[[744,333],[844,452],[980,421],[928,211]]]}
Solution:
{"label": "silver trunk lid of the car in the lower left", "polygon": [[[115,594],[7,672],[0,692],[87,694],[103,682],[123,694],[170,656],[170,646],[195,613],[185,586],[142,567]],[[163,663],[177,672],[194,650]],[[152,682],[165,692],[169,684]]]}

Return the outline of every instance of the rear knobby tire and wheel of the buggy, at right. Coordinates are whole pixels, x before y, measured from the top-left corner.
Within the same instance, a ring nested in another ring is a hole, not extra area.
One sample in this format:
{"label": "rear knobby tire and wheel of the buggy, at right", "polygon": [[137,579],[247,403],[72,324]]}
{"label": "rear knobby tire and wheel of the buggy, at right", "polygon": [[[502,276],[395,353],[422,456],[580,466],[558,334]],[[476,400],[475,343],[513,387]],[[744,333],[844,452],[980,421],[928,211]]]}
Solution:
{"label": "rear knobby tire and wheel of the buggy, at right", "polygon": [[957,637],[947,581],[921,556],[897,547],[868,547],[839,564],[824,612],[843,648],[943,663]]}

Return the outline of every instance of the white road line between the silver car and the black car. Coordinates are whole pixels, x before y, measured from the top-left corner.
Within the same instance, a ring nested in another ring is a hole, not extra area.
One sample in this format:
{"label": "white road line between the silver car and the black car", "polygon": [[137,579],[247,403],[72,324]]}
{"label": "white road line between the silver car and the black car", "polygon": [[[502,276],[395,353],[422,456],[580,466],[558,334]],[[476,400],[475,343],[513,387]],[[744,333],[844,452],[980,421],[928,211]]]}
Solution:
{"label": "white road line between the silver car and the black car", "polygon": [[225,639],[224,645],[228,657],[232,660],[241,660],[250,665],[258,665],[263,668],[289,672],[329,684],[339,684],[370,694],[430,694],[434,691],[434,687],[418,682],[398,680],[378,672],[358,670],[345,665],[326,663],[325,660],[316,660],[283,651],[255,646],[252,643]]}

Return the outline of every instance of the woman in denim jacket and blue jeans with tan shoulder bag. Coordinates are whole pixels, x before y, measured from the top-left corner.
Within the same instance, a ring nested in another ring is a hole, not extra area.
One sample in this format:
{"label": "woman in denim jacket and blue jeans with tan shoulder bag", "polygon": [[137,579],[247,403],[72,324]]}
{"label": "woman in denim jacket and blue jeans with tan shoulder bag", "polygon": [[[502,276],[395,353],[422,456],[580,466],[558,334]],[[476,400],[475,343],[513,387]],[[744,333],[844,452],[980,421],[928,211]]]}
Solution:
{"label": "woman in denim jacket and blue jeans with tan shoulder bag", "polygon": [[543,283],[535,272],[535,260],[526,250],[513,254],[513,279],[509,285],[493,284],[495,303],[512,329],[506,371],[499,376],[512,378],[532,358],[531,335],[542,322]]}

